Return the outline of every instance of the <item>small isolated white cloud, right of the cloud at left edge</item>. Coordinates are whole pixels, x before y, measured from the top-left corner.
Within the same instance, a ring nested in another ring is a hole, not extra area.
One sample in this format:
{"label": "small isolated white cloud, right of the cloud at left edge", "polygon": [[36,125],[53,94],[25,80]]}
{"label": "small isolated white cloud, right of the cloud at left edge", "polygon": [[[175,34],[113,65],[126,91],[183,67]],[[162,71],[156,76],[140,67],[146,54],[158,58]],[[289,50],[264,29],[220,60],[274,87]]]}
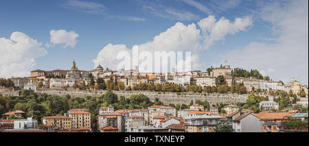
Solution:
{"label": "small isolated white cloud, right of the cloud at left edge", "polygon": [[74,31],[67,32],[64,29],[50,31],[50,42],[53,44],[64,44],[65,47],[75,47],[77,42],[76,38],[78,38],[78,34]]}

